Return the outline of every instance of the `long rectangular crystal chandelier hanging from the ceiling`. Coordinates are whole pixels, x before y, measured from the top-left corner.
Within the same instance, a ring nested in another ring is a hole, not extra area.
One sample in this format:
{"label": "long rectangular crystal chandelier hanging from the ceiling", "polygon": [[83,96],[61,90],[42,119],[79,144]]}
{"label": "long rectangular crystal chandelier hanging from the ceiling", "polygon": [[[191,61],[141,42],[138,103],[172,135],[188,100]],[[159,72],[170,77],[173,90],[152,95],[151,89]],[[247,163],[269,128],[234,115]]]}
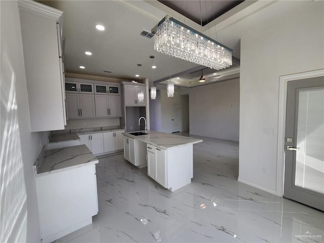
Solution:
{"label": "long rectangular crystal chandelier hanging from the ceiling", "polygon": [[232,65],[233,50],[167,15],[153,29],[154,50],[220,70]]}

